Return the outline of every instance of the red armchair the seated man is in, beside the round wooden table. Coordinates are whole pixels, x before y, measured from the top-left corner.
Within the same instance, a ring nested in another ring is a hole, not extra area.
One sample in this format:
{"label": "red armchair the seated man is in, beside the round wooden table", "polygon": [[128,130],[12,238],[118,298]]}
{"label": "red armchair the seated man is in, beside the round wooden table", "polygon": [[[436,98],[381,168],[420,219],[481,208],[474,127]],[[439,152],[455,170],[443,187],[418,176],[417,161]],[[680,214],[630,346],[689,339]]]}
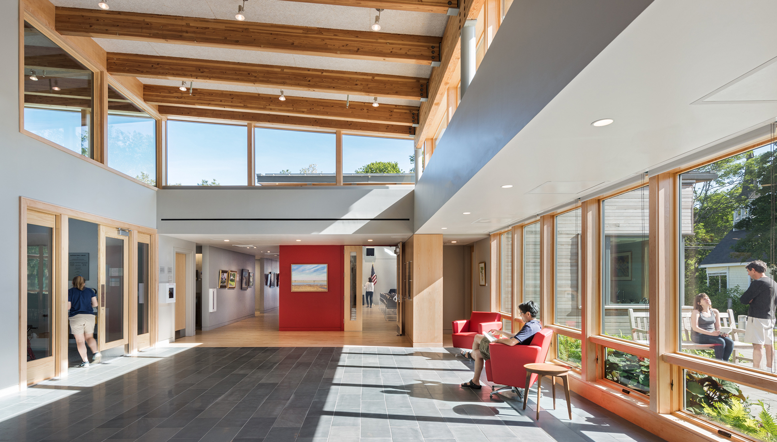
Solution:
{"label": "red armchair the seated man is in, beside the round wooden table", "polygon": [[545,362],[548,356],[550,342],[553,338],[551,329],[542,329],[531,338],[531,345],[506,346],[500,343],[490,343],[489,353],[491,359],[486,360],[486,379],[497,385],[507,385],[494,392],[491,387],[490,396],[494,393],[517,388],[520,392],[526,387],[531,387],[537,381],[537,374],[531,374],[529,385],[526,385],[525,364]]}

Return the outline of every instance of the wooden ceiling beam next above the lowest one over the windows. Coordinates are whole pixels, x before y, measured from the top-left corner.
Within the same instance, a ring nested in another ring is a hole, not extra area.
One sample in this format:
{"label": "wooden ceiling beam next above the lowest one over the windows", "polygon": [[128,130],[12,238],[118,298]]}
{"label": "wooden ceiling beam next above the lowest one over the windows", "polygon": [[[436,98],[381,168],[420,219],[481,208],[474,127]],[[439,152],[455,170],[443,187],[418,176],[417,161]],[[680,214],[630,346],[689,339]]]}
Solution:
{"label": "wooden ceiling beam next above the lowest one over the windows", "polygon": [[143,100],[162,106],[188,106],[212,110],[241,110],[243,112],[274,113],[298,117],[316,117],[333,120],[361,121],[365,123],[398,124],[412,126],[418,121],[418,108],[382,104],[373,107],[371,103],[346,102],[337,99],[310,99],[287,96],[280,101],[278,96],[250,92],[194,89],[193,94],[181,92],[176,87],[145,85]]}

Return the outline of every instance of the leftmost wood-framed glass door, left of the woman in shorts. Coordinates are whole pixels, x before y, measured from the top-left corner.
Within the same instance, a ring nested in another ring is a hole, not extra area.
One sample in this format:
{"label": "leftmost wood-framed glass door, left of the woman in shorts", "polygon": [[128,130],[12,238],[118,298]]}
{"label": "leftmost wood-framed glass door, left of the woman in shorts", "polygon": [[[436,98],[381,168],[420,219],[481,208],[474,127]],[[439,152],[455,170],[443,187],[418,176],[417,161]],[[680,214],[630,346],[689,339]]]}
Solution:
{"label": "leftmost wood-framed glass door, left of the woman in shorts", "polygon": [[[54,326],[54,237],[56,217],[35,211],[27,212],[27,280],[26,280],[26,346],[27,383],[53,378],[54,348],[57,343]],[[24,331],[23,331],[24,332]]]}

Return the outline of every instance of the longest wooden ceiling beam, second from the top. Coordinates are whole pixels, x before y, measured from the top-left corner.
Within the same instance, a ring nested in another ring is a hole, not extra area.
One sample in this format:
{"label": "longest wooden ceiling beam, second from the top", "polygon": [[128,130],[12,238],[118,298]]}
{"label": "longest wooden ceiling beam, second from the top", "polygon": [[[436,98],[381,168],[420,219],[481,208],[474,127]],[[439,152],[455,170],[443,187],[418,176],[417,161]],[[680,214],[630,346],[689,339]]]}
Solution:
{"label": "longest wooden ceiling beam, second from the top", "polygon": [[229,49],[432,64],[440,37],[335,30],[225,19],[57,7],[57,32],[68,36],[190,44]]}

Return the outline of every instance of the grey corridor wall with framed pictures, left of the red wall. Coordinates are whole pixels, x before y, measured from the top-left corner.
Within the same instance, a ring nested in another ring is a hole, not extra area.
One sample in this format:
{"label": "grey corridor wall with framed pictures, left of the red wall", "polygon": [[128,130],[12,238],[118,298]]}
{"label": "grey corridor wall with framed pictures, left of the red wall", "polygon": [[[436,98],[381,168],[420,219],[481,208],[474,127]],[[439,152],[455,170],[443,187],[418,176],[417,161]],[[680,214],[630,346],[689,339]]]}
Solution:
{"label": "grey corridor wall with framed pictures, left of the red wall", "polygon": [[[256,268],[256,256],[232,250],[219,249],[211,245],[202,246],[202,329],[216,329],[232,322],[252,318],[255,315],[256,297],[254,287],[242,290],[240,274],[243,269]],[[235,270],[238,281],[235,288],[218,288],[219,270]],[[216,289],[216,311],[208,311],[208,289]]]}

